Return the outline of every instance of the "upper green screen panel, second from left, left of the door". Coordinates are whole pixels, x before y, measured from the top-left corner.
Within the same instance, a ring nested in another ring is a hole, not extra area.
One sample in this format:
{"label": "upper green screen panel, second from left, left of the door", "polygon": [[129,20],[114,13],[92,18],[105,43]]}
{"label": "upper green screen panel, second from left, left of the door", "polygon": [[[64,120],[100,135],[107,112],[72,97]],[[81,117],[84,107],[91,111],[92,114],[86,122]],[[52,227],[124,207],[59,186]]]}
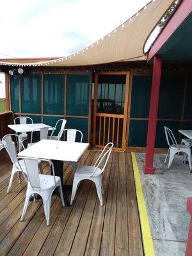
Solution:
{"label": "upper green screen panel, second from left, left of the door", "polygon": [[20,76],[21,112],[41,113],[41,75]]}

